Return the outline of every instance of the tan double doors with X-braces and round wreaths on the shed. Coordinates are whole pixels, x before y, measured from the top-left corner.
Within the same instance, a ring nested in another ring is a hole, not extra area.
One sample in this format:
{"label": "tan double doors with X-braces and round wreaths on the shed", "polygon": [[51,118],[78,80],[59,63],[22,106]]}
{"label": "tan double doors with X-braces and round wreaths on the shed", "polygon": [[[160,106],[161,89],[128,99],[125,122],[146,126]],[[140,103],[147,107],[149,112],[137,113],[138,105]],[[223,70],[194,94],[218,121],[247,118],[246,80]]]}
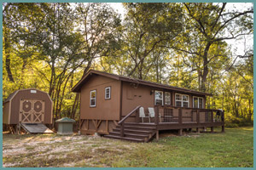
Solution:
{"label": "tan double doors with X-braces and round wreaths on the shed", "polygon": [[44,100],[21,99],[20,122],[44,122]]}

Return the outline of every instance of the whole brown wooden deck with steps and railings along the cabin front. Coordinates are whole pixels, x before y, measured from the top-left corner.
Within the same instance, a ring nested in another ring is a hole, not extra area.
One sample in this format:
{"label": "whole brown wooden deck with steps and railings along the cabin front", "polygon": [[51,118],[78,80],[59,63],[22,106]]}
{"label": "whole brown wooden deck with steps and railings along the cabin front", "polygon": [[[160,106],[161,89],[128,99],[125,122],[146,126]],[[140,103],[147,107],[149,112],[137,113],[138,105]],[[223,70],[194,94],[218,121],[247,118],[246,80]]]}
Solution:
{"label": "whole brown wooden deck with steps and railings along the cabin front", "polygon": [[179,130],[179,135],[182,135],[183,129],[196,128],[199,133],[200,128],[211,127],[211,132],[213,132],[214,127],[222,127],[222,132],[224,132],[224,111],[155,106],[154,117],[160,116],[160,118],[151,117],[150,119],[152,120],[150,122],[149,119],[148,122],[142,122],[138,111],[140,107],[138,105],[119,121],[119,125],[113,129],[113,132],[105,135],[105,137],[126,139],[134,142],[148,142],[154,136],[159,139],[160,130],[177,129]]}

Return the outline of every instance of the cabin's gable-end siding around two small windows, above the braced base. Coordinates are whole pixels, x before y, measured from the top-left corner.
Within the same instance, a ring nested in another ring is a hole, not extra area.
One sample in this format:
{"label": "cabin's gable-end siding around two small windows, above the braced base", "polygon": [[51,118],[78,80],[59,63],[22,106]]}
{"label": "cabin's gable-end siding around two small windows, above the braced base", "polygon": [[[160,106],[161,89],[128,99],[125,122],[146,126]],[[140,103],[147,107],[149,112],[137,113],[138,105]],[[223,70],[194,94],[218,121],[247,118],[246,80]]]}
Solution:
{"label": "cabin's gable-end siding around two small windows, above the braced base", "polygon": [[[105,88],[111,87],[111,99],[105,99]],[[90,107],[90,91],[96,90],[96,107]],[[93,76],[81,88],[80,119],[119,120],[120,82]]]}

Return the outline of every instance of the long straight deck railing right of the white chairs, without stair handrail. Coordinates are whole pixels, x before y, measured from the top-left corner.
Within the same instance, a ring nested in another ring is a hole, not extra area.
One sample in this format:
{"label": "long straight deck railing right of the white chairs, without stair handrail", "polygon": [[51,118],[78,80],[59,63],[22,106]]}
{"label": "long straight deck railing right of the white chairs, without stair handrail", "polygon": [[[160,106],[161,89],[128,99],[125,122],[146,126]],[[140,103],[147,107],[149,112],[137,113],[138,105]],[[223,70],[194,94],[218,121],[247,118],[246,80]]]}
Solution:
{"label": "long straight deck railing right of the white chairs, without stair handrail", "polygon": [[200,122],[224,122],[224,111],[213,109],[183,108],[176,106],[154,106],[155,124],[159,122],[169,123],[200,123]]}

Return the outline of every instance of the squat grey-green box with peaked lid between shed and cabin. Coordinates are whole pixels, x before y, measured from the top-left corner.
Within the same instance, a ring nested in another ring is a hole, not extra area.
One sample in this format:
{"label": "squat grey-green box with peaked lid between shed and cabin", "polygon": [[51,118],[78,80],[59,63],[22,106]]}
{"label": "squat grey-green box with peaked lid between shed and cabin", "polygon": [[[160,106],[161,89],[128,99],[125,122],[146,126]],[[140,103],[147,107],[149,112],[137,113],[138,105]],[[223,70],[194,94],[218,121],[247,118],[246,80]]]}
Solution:
{"label": "squat grey-green box with peaked lid between shed and cabin", "polygon": [[73,134],[73,123],[76,122],[73,119],[68,117],[63,117],[55,121],[58,123],[58,132],[57,134]]}

